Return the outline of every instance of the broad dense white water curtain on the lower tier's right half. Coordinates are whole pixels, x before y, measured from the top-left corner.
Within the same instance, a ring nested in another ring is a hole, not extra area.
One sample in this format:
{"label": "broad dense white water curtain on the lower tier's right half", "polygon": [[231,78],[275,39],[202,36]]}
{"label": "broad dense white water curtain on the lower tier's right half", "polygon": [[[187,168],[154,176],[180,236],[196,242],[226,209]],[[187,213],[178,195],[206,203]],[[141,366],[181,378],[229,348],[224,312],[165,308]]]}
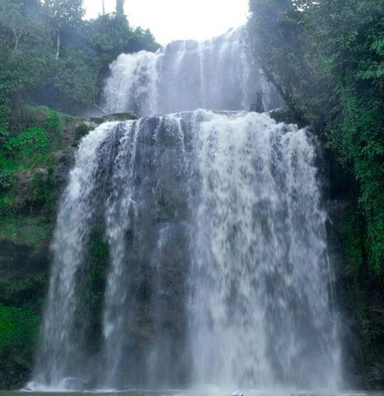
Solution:
{"label": "broad dense white water curtain on the lower tier's right half", "polygon": [[195,126],[189,300],[198,382],[336,385],[316,144],[266,115]]}

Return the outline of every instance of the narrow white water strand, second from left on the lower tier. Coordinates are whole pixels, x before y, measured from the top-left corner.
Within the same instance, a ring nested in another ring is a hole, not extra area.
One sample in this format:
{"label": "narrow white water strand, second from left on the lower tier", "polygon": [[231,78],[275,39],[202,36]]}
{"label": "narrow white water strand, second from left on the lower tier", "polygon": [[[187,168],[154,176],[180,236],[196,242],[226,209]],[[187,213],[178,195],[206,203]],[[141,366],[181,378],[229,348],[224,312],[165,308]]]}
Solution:
{"label": "narrow white water strand, second from left on the lower tier", "polygon": [[[112,193],[105,206],[106,234],[110,245],[111,270],[107,280],[103,330],[107,353],[107,383],[113,384],[116,372],[122,360],[125,340],[124,320],[129,314],[124,307],[127,304],[127,286],[129,279],[124,271],[125,234],[129,229],[129,211],[134,209],[134,170],[136,160],[137,131],[140,122],[128,123],[122,139],[119,141],[112,172]],[[129,301],[128,301],[129,303]]]}

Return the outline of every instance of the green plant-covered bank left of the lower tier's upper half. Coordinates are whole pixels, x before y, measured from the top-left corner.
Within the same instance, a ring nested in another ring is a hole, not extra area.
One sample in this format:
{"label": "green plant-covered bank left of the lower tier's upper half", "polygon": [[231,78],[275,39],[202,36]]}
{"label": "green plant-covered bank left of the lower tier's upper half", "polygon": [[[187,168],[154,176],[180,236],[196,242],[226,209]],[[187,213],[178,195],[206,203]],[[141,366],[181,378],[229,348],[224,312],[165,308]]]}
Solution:
{"label": "green plant-covered bank left of the lower tier's upper half", "polygon": [[[43,106],[23,108],[22,115],[22,132],[7,133],[0,146],[0,240],[38,250],[52,231],[54,213],[53,168],[40,168],[52,161],[64,117]],[[41,126],[24,129],[31,124]]]}

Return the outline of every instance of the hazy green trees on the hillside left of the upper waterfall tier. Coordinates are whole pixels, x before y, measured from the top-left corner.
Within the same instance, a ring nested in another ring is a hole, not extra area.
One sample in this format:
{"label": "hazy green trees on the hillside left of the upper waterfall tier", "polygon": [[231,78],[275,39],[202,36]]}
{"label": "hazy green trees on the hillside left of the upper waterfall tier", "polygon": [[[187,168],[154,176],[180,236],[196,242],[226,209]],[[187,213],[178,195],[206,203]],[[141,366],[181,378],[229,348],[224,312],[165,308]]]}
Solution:
{"label": "hazy green trees on the hillside left of the upper waterfall tier", "polygon": [[[120,53],[158,48],[150,31],[130,28],[126,16],[83,20],[81,0],[0,0],[0,5],[0,129],[1,119],[17,124],[1,108],[16,120],[25,98],[73,113],[97,104],[102,78]],[[17,45],[4,13],[16,5],[23,18],[16,20],[22,30]]]}

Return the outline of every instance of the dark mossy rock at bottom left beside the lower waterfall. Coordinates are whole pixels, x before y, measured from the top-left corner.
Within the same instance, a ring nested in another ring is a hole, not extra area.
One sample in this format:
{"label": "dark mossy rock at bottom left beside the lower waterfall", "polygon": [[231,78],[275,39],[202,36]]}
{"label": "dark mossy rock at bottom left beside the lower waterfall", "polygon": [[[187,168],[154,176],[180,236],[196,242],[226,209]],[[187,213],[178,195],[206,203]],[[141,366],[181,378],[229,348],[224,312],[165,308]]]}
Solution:
{"label": "dark mossy rock at bottom left beside the lower waterfall", "polygon": [[[48,287],[48,246],[28,236],[0,241],[0,387],[19,388],[28,379]],[[36,229],[35,229],[36,231]],[[4,235],[3,235],[4,236]],[[42,239],[46,239],[46,235]]]}

